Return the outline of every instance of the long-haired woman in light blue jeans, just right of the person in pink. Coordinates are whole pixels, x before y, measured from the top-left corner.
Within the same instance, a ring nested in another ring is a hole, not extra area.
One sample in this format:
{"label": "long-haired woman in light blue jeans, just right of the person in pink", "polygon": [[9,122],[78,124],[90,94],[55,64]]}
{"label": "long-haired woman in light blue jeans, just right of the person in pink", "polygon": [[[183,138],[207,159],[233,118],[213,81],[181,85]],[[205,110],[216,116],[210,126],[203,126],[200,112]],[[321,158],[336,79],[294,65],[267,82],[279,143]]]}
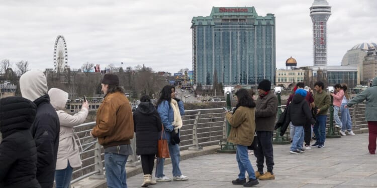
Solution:
{"label": "long-haired woman in light blue jeans, just right of the person in pink", "polygon": [[352,120],[351,120],[351,116],[349,115],[349,109],[348,108],[344,108],[344,106],[347,105],[350,97],[347,93],[347,85],[343,84],[342,85],[342,90],[344,91],[344,96],[343,96],[343,100],[342,100],[342,104],[340,106],[340,118],[341,118],[341,121],[342,121],[342,128],[341,130],[339,131],[341,135],[345,136],[346,134],[346,131],[348,132],[349,135],[355,135],[355,133],[353,133],[352,131]]}

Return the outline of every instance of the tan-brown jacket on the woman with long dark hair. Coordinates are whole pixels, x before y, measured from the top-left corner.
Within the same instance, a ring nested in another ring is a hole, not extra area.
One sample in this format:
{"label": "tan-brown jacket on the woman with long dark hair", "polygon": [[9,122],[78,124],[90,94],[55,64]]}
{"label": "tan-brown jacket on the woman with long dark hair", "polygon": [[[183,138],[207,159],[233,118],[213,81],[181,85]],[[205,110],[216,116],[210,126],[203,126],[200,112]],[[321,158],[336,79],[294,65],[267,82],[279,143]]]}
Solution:
{"label": "tan-brown jacket on the woman with long dark hair", "polygon": [[239,145],[250,145],[254,140],[255,108],[240,106],[234,114],[228,112],[226,118],[231,125],[228,141]]}

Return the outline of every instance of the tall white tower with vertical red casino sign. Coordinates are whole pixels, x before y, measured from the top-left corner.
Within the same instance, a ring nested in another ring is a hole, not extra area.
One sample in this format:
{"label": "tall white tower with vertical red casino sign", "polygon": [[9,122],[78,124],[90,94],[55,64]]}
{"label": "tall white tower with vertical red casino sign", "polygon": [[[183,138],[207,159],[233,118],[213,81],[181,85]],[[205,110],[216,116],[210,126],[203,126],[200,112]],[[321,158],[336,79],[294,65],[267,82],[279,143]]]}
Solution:
{"label": "tall white tower with vertical red casino sign", "polygon": [[310,7],[313,22],[313,64],[327,65],[327,20],[331,15],[331,7],[326,0],[315,0]]}

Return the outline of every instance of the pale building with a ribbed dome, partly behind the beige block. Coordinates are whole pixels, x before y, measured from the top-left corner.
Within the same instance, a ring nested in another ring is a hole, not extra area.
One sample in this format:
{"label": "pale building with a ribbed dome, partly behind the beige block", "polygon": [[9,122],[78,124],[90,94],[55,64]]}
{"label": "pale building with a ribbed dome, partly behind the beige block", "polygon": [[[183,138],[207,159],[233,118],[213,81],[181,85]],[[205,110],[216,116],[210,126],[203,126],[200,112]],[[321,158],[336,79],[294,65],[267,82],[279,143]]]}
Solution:
{"label": "pale building with a ribbed dome, partly behind the beige block", "polygon": [[347,53],[344,54],[341,65],[344,66],[358,66],[360,70],[360,81],[365,81],[363,61],[369,49],[376,49],[375,43],[361,43],[353,46]]}

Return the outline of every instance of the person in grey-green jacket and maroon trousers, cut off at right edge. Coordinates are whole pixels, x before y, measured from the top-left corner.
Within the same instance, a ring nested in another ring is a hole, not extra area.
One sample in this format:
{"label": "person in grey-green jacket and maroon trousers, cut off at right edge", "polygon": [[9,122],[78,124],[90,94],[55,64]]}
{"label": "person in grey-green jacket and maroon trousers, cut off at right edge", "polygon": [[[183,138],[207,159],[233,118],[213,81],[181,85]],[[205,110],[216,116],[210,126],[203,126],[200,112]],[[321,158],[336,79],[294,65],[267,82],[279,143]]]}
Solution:
{"label": "person in grey-green jacket and maroon trousers, cut off at right edge", "polygon": [[372,86],[357,94],[350,100],[345,108],[349,108],[354,104],[365,102],[365,120],[369,129],[368,149],[370,154],[375,154],[377,139],[377,77],[373,78]]}

